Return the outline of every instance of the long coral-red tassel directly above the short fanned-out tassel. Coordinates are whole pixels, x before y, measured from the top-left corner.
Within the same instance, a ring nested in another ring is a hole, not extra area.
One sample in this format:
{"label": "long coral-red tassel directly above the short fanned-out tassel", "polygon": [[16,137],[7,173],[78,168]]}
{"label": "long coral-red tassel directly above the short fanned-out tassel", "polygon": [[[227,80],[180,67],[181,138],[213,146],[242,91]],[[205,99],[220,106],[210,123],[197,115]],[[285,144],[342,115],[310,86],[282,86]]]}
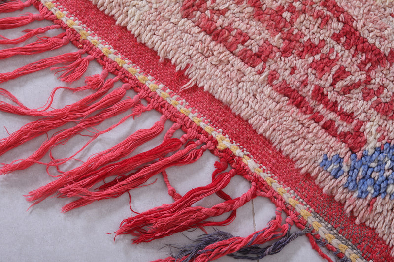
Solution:
{"label": "long coral-red tassel directly above the short fanned-out tassel", "polygon": [[18,78],[20,76],[30,74],[33,72],[37,72],[39,70],[48,68],[50,66],[53,66],[58,63],[72,63],[73,61],[76,61],[77,59],[81,58],[81,55],[85,53],[85,50],[78,50],[77,52],[73,53],[66,53],[66,54],[61,54],[55,57],[49,57],[49,58],[44,58],[41,60],[38,60],[36,62],[27,64],[25,66],[22,66],[18,69],[15,69],[12,72],[8,73],[1,73],[0,74],[0,83],[6,82],[11,79]]}

